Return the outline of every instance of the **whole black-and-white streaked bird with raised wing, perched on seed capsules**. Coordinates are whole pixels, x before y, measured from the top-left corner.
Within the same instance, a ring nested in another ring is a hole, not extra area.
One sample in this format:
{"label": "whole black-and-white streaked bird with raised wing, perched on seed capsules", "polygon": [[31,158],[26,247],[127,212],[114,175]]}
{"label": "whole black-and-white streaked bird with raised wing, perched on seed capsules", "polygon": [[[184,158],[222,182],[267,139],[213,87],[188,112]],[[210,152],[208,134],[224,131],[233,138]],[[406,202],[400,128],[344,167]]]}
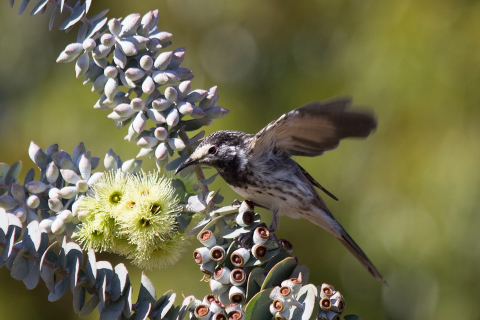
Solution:
{"label": "whole black-and-white streaked bird with raised wing, perched on seed capsules", "polygon": [[190,165],[215,168],[240,196],[270,210],[270,230],[280,215],[303,217],[334,235],[377,280],[380,272],[334,218],[315,187],[322,187],[292,156],[317,156],[346,137],[364,138],[377,121],[367,110],[351,109],[350,97],[314,101],[271,121],[256,134],[220,130],[205,137],[175,170]]}

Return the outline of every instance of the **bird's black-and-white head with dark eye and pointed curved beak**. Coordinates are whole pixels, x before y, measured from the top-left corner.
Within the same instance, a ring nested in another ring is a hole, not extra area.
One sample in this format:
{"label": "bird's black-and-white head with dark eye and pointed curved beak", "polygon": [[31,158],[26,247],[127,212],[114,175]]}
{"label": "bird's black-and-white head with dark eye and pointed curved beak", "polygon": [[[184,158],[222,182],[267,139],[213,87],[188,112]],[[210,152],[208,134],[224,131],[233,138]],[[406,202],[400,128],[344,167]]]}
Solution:
{"label": "bird's black-and-white head with dark eye and pointed curved beak", "polygon": [[246,162],[245,143],[250,134],[222,130],[208,135],[193,153],[175,170],[175,174],[193,164],[203,164],[218,170],[234,166],[241,169]]}

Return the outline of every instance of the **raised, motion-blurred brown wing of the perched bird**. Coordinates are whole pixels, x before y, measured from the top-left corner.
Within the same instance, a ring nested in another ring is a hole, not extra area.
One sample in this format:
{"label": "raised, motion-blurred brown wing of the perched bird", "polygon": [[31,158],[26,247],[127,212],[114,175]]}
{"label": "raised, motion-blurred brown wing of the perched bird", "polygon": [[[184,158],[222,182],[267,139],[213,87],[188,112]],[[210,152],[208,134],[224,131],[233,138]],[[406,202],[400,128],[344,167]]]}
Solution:
{"label": "raised, motion-blurred brown wing of the perched bird", "polygon": [[320,155],[345,137],[366,137],[376,127],[373,114],[349,110],[351,98],[307,103],[268,123],[252,140],[252,152],[277,148],[289,155]]}

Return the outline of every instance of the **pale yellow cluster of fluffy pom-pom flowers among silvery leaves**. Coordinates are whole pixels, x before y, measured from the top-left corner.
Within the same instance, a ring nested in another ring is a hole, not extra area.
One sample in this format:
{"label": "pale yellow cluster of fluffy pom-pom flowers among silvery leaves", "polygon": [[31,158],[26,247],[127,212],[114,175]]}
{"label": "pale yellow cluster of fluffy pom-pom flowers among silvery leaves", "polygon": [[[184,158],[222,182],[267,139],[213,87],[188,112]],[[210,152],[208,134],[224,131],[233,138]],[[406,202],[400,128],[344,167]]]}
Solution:
{"label": "pale yellow cluster of fluffy pom-pom flowers among silvery leaves", "polygon": [[85,249],[126,255],[147,269],[178,260],[187,241],[177,226],[181,207],[170,179],[110,171],[91,189],[78,200],[85,218],[76,238]]}

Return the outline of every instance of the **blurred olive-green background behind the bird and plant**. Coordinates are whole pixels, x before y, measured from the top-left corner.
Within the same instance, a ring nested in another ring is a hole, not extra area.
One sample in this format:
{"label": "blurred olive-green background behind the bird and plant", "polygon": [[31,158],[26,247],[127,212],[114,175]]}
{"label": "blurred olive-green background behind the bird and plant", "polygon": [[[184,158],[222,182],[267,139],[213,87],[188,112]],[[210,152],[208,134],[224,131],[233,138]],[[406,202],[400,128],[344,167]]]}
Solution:
{"label": "blurred olive-green background behind the bird and plant", "polygon": [[[48,16],[29,17],[33,4],[18,16],[18,5],[0,4],[0,161],[22,160],[26,172],[30,140],[68,152],[84,141],[100,157],[110,147],[134,157],[126,130],[92,108],[98,96],[75,79],[74,64],[54,62],[77,29],[48,32]],[[379,124],[368,139],[296,160],[340,199],[326,202],[389,285],[306,220],[283,217],[276,234],[293,243],[310,282],[344,294],[344,314],[480,319],[478,1],[117,0],[96,1],[90,12],[105,7],[109,17],[159,8],[171,48],[186,47],[193,87],[218,85],[218,105],[230,109],[207,133],[254,133],[336,95],[373,109]],[[214,187],[225,202],[236,197],[221,179]],[[259,212],[269,223],[269,213]],[[146,272],[158,294],[208,292],[191,258],[195,242],[176,265]],[[120,257],[100,258],[125,263],[138,290],[140,270]],[[53,303],[47,295],[43,282],[26,290],[0,268],[1,318],[77,318],[69,291]]]}

